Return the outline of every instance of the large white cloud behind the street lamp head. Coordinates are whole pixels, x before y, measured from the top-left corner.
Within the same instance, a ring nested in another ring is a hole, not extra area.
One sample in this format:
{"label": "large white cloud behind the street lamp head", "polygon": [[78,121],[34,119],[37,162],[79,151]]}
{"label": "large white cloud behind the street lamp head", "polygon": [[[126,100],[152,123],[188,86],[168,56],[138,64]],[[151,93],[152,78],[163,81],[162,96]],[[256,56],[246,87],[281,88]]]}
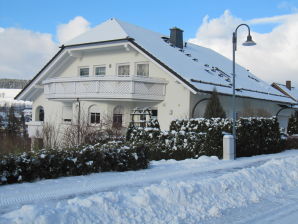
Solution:
{"label": "large white cloud behind the street lamp head", "polygon": [[[231,59],[231,36],[240,23],[252,25],[251,34],[257,45],[242,46],[241,40],[245,41],[247,31],[245,28],[240,28],[236,62],[269,83],[284,83],[285,80],[292,80],[298,87],[298,14],[243,21],[234,17],[229,11],[225,11],[219,18],[205,17],[196,37],[190,41],[211,48]],[[254,26],[268,23],[276,24],[270,32],[253,31]]]}

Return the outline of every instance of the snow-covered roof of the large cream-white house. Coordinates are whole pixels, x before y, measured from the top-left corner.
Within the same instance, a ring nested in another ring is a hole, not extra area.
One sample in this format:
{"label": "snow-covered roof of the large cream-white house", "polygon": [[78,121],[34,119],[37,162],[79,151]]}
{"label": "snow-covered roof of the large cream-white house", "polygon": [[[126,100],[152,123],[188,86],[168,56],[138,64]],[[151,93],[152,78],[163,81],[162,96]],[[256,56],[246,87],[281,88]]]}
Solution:
{"label": "snow-covered roof of the large cream-white house", "polygon": [[[163,38],[164,37],[164,38]],[[110,19],[65,43],[65,46],[132,38],[133,42],[175,71],[197,91],[232,94],[232,62],[219,53],[187,42],[183,49],[173,47],[167,36]],[[294,103],[294,101],[245,68],[236,65],[236,94],[243,97]]]}

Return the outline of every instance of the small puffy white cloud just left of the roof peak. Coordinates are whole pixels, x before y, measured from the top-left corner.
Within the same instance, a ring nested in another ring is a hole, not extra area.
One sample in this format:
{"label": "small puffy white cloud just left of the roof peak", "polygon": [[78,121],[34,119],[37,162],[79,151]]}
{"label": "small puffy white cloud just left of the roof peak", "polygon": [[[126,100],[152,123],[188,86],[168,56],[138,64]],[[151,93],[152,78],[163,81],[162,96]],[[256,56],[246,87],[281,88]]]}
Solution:
{"label": "small puffy white cloud just left of the roof peak", "polygon": [[57,38],[60,43],[65,43],[74,37],[88,31],[90,23],[83,17],[77,16],[67,24],[61,24],[57,28]]}

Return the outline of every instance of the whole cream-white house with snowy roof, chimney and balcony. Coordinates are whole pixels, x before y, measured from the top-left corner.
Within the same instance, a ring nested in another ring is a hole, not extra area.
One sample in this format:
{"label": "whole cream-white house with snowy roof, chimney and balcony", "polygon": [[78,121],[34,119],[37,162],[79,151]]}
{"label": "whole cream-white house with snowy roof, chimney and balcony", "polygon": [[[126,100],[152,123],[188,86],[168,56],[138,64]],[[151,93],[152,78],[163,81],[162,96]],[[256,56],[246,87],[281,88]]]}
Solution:
{"label": "whole cream-white house with snowy roof, chimney and balcony", "polygon": [[[98,124],[111,117],[127,127],[134,108],[151,108],[162,129],[177,118],[201,117],[216,88],[232,117],[232,62],[215,51],[118,19],[110,19],[61,46],[16,99],[33,101],[34,137],[43,122]],[[272,116],[296,102],[236,65],[238,116]],[[287,125],[289,111],[279,119]]]}

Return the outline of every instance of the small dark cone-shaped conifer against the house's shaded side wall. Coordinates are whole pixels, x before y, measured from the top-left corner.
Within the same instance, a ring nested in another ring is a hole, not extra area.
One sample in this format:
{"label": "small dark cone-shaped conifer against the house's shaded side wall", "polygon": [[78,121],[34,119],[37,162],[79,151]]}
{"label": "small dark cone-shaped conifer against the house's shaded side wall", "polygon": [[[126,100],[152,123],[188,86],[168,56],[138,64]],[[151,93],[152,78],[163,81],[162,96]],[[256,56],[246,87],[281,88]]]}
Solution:
{"label": "small dark cone-shaped conifer against the house's shaded side wall", "polygon": [[226,117],[226,113],[220,104],[218,93],[215,88],[213,89],[211,97],[208,100],[204,117],[205,118],[213,118],[213,117],[225,118]]}

